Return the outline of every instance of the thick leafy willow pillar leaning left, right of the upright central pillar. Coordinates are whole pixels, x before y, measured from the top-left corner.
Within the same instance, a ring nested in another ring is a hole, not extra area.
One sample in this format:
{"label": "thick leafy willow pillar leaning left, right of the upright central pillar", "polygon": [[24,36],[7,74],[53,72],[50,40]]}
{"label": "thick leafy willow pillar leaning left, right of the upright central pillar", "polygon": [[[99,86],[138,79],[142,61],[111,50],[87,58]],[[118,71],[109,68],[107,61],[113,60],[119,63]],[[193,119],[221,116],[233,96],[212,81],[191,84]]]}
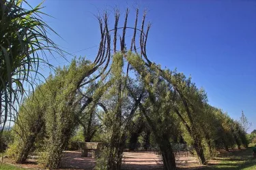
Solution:
{"label": "thick leafy willow pillar leaning left, right of the upright central pillar", "polygon": [[[173,90],[159,76],[159,72],[150,71],[139,57],[128,53],[128,61],[139,73],[145,89],[145,99],[140,105],[142,116],[149,124],[162,158],[164,169],[176,169],[175,156],[169,141],[171,133],[177,131],[177,117],[173,111]],[[134,61],[134,63],[132,63]],[[136,63],[135,63],[136,61]],[[142,65],[139,65],[142,63]]]}

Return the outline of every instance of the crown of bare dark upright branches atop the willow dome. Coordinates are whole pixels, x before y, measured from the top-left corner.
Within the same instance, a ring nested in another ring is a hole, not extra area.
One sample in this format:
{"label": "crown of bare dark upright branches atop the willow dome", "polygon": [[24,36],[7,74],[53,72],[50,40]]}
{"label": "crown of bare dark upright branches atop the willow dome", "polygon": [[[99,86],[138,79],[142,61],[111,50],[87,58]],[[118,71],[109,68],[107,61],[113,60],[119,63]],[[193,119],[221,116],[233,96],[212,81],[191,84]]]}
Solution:
{"label": "crown of bare dark upright branches atop the willow dome", "polygon": [[[143,21],[142,21],[142,26],[141,29],[137,28],[138,25],[138,17],[139,17],[139,9],[136,10],[136,18],[135,18],[135,23],[134,23],[134,27],[129,27],[127,25],[127,21],[128,21],[128,15],[129,15],[129,9],[126,9],[126,13],[125,13],[125,17],[124,17],[124,25],[122,27],[119,27],[119,18],[120,18],[120,12],[119,10],[115,10],[115,24],[114,24],[114,28],[113,29],[109,29],[109,14],[108,12],[104,12],[104,14],[97,16],[97,20],[100,26],[100,33],[101,33],[101,39],[100,39],[100,46],[98,49],[98,54],[94,60],[94,64],[95,67],[94,69],[92,69],[92,71],[96,71],[98,70],[98,68],[102,65],[104,65],[102,71],[100,71],[100,73],[98,73],[98,75],[95,76],[95,78],[88,80],[87,82],[83,82],[80,84],[81,86],[84,86],[85,84],[89,84],[90,82],[93,82],[94,80],[97,80],[98,78],[101,77],[101,75],[104,76],[102,77],[102,79],[106,78],[106,75],[109,74],[110,72],[110,67],[109,67],[109,62],[111,59],[111,54],[115,54],[116,52],[122,52],[123,54],[126,54],[126,49],[130,49],[131,51],[134,52],[139,52],[139,49],[141,50],[141,54],[146,55],[145,52],[145,46],[146,46],[146,41],[147,41],[147,36],[148,36],[148,32],[150,30],[150,24],[147,27],[147,31],[144,31],[144,22],[145,22],[145,16],[146,16],[146,12],[144,12],[143,14]],[[132,35],[132,39],[131,41],[128,43],[126,37],[126,30],[127,29],[132,29],[133,30],[133,35]],[[140,39],[140,44],[139,47],[136,46],[135,41],[136,41],[136,37],[137,32],[139,32],[139,39]],[[111,40],[111,33],[113,33],[113,40]],[[117,41],[117,36],[119,36],[119,43]],[[122,35],[122,36],[121,36]],[[111,41],[113,41],[113,43],[111,44]],[[130,48],[126,47],[126,44],[130,44]],[[117,49],[117,47],[119,47],[119,50]],[[127,74],[129,71],[129,67],[130,64],[128,63],[127,66]],[[109,70],[107,70],[109,69]]]}

